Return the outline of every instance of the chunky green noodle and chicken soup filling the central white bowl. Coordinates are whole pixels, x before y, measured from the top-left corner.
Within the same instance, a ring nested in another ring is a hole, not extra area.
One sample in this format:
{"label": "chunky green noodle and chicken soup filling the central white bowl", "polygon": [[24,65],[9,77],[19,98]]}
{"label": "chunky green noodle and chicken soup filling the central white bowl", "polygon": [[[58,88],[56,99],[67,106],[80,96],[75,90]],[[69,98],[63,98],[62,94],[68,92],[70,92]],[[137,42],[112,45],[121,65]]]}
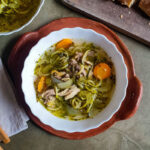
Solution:
{"label": "chunky green noodle and chicken soup filling the central white bowl", "polygon": [[[113,95],[116,76],[111,58],[92,43],[73,42],[67,48],[56,45],[36,62],[37,101],[60,118],[74,121],[93,118]],[[97,78],[93,71],[101,63],[111,68],[110,76],[104,79]]]}

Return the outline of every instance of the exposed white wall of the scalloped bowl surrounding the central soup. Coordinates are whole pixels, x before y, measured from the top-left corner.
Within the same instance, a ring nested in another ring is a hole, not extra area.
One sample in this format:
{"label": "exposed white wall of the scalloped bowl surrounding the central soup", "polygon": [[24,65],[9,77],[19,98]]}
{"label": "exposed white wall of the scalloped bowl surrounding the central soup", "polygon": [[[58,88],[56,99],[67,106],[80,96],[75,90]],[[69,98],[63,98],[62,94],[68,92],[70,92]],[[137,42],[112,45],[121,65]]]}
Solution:
{"label": "exposed white wall of the scalloped bowl surrounding the central soup", "polygon": [[[107,54],[112,58],[116,69],[116,87],[112,99],[108,106],[93,119],[81,121],[69,121],[60,119],[47,111],[40,103],[36,101],[36,92],[34,89],[34,68],[39,56],[45,52],[51,45],[64,39],[81,39],[87,42],[92,42],[95,45],[102,47]],[[31,109],[33,115],[38,117],[40,121],[56,130],[66,132],[85,132],[93,128],[99,127],[104,122],[108,121],[113,114],[119,109],[126,95],[128,85],[127,68],[121,53],[116,46],[110,42],[104,35],[98,34],[91,29],[83,28],[64,28],[59,31],[50,33],[42,38],[30,51],[24,62],[22,71],[22,90],[25,97],[25,102]]]}

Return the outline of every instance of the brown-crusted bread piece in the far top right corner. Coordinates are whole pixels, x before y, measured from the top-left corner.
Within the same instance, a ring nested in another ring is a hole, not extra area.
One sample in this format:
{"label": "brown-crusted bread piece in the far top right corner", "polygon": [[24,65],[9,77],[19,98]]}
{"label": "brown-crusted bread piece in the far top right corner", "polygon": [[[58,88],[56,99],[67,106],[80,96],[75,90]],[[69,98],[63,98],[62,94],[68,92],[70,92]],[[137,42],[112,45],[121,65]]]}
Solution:
{"label": "brown-crusted bread piece in the far top right corner", "polygon": [[150,0],[141,0],[139,7],[150,17]]}

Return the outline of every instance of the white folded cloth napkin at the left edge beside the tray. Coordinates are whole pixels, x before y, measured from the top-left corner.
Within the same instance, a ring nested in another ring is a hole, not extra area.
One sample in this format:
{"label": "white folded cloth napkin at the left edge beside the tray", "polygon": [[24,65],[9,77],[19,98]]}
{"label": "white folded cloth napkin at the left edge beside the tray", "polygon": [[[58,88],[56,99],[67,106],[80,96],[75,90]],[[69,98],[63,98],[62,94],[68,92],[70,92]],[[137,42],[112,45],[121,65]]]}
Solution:
{"label": "white folded cloth napkin at the left edge beside the tray", "polygon": [[29,120],[23,108],[16,101],[8,75],[0,59],[0,126],[8,136],[28,128]]}

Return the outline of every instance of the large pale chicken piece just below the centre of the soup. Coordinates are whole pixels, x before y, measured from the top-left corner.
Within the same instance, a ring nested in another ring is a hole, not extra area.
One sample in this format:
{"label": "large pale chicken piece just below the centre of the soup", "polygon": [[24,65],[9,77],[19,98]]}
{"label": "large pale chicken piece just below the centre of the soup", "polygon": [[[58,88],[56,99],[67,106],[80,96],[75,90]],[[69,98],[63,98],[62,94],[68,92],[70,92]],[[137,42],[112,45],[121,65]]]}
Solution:
{"label": "large pale chicken piece just below the centre of the soup", "polygon": [[58,93],[59,96],[65,96],[65,100],[73,98],[80,92],[80,89],[75,85],[72,85],[70,88],[65,89],[64,91]]}

